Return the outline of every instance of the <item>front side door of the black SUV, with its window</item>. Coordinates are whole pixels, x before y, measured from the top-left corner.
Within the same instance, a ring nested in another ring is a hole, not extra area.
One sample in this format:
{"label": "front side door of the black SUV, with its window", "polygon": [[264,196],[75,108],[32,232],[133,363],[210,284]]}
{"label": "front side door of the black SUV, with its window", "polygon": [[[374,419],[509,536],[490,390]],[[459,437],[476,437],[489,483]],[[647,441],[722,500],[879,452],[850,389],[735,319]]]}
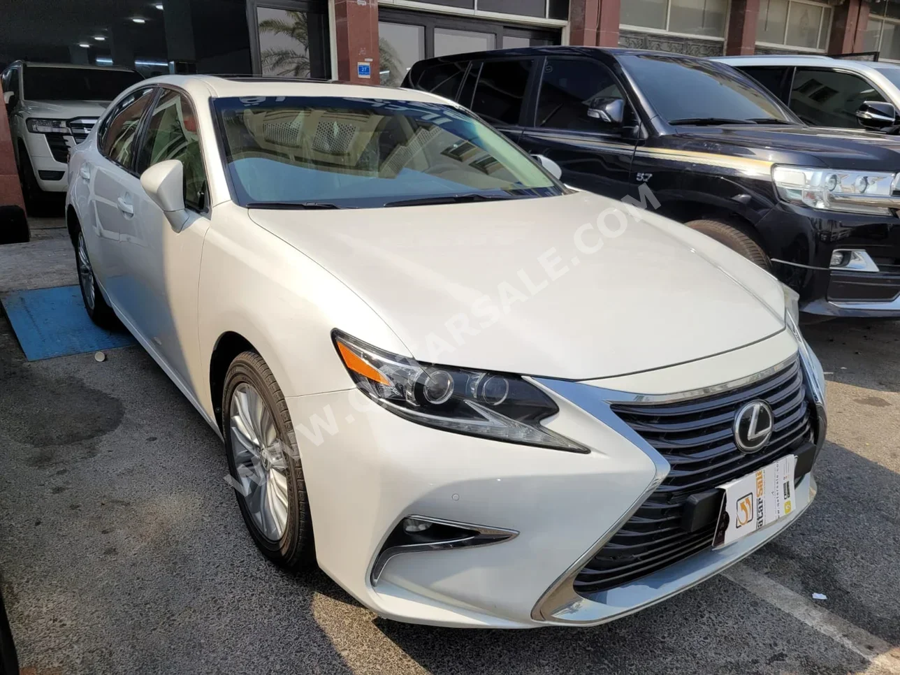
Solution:
{"label": "front side door of the black SUV, with its window", "polygon": [[[590,58],[549,57],[542,68],[535,117],[519,145],[553,159],[563,182],[621,199],[628,193],[638,122],[616,76]],[[596,106],[622,100],[622,121]]]}

